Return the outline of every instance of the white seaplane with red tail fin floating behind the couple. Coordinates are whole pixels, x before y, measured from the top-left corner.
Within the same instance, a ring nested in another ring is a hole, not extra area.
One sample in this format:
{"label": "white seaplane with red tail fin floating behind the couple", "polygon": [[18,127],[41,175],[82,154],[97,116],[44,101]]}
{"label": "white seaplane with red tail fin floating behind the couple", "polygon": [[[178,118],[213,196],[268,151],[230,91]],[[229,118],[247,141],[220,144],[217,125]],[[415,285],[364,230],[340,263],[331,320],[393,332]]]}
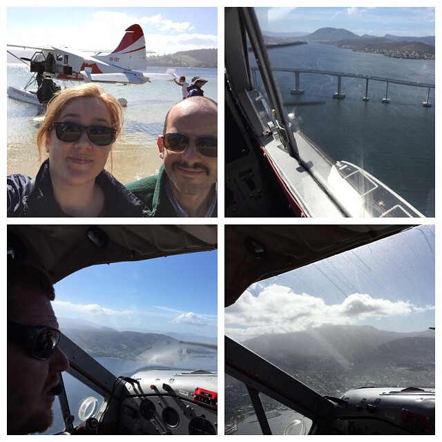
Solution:
{"label": "white seaplane with red tail fin floating behind the couple", "polygon": [[55,46],[20,46],[8,44],[8,48],[35,50],[30,58],[8,53],[30,66],[32,77],[24,88],[8,86],[8,95],[31,104],[41,104],[37,90],[30,90],[35,83],[40,86],[45,77],[52,81],[96,81],[100,83],[145,84],[149,81],[173,81],[173,69],[166,73],[147,73],[144,32],[140,25],[129,26],[115,50],[88,52]]}

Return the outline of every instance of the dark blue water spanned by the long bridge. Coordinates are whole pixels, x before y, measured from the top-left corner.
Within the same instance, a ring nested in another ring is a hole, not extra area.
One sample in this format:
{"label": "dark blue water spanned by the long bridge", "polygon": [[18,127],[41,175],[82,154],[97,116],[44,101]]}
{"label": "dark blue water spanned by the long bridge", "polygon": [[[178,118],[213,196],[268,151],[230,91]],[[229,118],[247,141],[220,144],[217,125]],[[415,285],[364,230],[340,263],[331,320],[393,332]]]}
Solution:
{"label": "dark blue water spanned by the long bridge", "polygon": [[[269,50],[273,68],[307,68],[434,84],[434,61],[393,59],[325,44]],[[343,78],[343,100],[333,99],[336,77],[300,74],[301,96],[293,73],[275,73],[287,111],[301,117],[300,130],[333,160],[363,167],[426,216],[434,216],[434,89],[432,108],[424,108],[427,88],[389,84],[390,104],[383,104],[386,84]],[[320,104],[310,104],[320,102]]]}

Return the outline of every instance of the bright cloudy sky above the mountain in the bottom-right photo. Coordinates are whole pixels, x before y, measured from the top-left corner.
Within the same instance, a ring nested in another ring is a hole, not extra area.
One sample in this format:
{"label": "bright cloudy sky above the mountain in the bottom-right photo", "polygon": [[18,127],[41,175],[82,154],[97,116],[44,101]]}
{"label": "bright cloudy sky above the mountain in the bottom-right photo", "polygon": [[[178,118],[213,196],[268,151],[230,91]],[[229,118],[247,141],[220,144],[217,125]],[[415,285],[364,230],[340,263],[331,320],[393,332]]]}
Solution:
{"label": "bright cloudy sky above the mountain in the bottom-right photo", "polygon": [[325,324],[394,332],[434,327],[434,226],[423,226],[258,282],[225,309],[238,340]]}

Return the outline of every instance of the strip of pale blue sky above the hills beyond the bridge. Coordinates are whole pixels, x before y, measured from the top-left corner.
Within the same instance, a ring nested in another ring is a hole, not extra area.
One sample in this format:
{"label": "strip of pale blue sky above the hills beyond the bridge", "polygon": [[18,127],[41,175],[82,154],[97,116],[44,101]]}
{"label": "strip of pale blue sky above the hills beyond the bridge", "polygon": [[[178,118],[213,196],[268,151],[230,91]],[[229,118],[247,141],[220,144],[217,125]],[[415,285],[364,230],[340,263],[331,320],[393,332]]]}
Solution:
{"label": "strip of pale blue sky above the hills beyond the bridge", "polygon": [[[368,2],[371,5],[374,2]],[[378,2],[377,2],[378,3]],[[344,28],[356,35],[434,35],[434,8],[256,8],[260,23],[273,32],[314,32]],[[269,26],[265,26],[267,20]]]}

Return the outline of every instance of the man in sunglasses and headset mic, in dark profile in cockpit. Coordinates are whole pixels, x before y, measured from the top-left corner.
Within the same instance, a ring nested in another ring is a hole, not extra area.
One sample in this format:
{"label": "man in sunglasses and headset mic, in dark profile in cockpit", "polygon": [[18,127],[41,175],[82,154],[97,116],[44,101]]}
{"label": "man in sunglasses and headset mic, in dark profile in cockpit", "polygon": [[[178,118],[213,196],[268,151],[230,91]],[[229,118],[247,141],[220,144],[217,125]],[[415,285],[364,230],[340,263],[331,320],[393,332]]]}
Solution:
{"label": "man in sunglasses and headset mic, in dark profile in cockpit", "polygon": [[55,291],[35,267],[8,262],[8,434],[44,432],[52,424],[59,373],[68,359],[50,304]]}

